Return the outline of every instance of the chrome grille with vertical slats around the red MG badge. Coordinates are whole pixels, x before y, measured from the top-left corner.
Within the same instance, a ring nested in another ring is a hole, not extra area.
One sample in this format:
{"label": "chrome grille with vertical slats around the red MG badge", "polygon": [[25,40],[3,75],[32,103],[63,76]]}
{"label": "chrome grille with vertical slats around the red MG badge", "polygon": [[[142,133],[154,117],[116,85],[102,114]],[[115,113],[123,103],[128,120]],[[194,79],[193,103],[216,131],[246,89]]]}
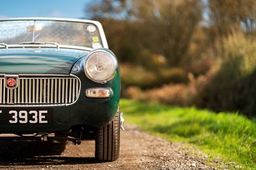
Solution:
{"label": "chrome grille with vertical slats around the red MG badge", "polygon": [[67,105],[79,97],[77,77],[19,77],[18,88],[5,87],[0,77],[0,105]]}

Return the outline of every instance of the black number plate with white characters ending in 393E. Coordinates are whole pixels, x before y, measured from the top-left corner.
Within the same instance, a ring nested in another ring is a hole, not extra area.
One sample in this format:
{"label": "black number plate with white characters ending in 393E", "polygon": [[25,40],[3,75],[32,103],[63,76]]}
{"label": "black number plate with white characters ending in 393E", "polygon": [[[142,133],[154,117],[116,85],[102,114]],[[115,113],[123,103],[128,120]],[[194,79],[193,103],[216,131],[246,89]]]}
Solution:
{"label": "black number plate with white characters ending in 393E", "polygon": [[1,108],[0,123],[3,124],[52,124],[52,109],[44,108]]}

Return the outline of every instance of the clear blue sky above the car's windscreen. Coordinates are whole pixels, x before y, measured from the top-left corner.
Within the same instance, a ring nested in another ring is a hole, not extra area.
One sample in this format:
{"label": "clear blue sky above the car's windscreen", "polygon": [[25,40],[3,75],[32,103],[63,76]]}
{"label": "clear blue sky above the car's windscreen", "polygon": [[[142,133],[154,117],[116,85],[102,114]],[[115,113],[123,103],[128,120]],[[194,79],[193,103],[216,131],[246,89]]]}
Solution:
{"label": "clear blue sky above the car's windscreen", "polygon": [[2,0],[0,18],[61,17],[86,18],[84,8],[92,0]]}

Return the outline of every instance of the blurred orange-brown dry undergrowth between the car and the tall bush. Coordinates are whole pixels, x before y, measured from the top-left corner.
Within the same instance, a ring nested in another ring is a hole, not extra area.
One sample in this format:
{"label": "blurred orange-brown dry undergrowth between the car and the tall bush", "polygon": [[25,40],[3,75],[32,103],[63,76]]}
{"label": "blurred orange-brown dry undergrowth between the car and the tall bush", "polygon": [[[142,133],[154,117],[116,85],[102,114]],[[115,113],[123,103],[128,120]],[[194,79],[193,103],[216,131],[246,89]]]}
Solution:
{"label": "blurred orange-brown dry undergrowth between the car and the tall bush", "polygon": [[216,73],[216,68],[212,68],[205,75],[194,77],[188,74],[189,83],[184,84],[164,84],[160,88],[141,91],[136,86],[131,86],[125,91],[125,96],[143,101],[161,102],[170,105],[188,106],[195,104],[195,98],[202,89],[207,86],[209,80]]}

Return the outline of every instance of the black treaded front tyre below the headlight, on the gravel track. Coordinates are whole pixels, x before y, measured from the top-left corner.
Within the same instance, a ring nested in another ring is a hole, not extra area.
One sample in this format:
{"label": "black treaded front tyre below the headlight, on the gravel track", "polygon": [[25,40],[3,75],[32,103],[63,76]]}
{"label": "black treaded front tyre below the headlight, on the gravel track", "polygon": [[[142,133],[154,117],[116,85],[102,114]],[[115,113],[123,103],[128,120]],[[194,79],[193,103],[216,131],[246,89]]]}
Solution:
{"label": "black treaded front tyre below the headlight, on the gravel track", "polygon": [[120,152],[120,116],[119,109],[115,119],[99,128],[95,138],[95,157],[102,162],[117,160]]}

